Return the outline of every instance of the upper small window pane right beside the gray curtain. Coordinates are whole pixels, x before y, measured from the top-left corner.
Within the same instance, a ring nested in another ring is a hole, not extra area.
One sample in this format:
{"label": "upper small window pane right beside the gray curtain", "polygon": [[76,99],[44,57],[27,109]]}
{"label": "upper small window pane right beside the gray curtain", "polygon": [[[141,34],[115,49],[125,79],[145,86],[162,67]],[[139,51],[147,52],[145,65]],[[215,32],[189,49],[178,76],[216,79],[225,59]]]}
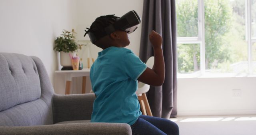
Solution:
{"label": "upper small window pane right beside the gray curtain", "polygon": [[176,0],[177,37],[198,36],[198,1]]}

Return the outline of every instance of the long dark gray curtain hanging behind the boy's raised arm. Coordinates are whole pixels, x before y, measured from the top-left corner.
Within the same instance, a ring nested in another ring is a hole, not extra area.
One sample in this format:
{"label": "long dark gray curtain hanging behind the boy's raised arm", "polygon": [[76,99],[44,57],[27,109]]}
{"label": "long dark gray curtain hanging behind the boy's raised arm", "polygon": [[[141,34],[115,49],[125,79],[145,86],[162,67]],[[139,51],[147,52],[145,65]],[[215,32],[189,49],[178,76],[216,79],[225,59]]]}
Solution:
{"label": "long dark gray curtain hanging behind the boy's raised arm", "polygon": [[140,39],[140,59],[143,62],[154,55],[148,38],[151,30],[162,35],[166,73],[162,86],[150,87],[148,102],[153,116],[168,119],[177,115],[175,0],[144,0]]}

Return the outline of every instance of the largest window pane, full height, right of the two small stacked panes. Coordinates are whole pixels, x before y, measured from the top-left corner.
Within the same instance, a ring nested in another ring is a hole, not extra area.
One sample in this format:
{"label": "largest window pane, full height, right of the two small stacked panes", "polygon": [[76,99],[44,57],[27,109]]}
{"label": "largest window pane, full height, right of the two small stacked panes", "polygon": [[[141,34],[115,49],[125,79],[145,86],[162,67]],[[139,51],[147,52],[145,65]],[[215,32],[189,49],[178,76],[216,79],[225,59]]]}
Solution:
{"label": "largest window pane, full height, right of the two small stacked panes", "polygon": [[206,71],[247,72],[244,0],[205,0]]}

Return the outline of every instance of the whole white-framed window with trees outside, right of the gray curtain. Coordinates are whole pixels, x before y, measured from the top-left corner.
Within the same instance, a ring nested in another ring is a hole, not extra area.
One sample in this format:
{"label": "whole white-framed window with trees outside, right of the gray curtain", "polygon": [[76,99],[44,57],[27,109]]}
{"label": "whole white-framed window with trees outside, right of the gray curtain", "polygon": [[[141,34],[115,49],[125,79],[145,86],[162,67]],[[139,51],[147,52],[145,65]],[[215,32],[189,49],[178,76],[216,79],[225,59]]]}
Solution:
{"label": "whole white-framed window with trees outside, right of the gray curtain", "polygon": [[256,74],[256,0],[176,0],[178,77]]}

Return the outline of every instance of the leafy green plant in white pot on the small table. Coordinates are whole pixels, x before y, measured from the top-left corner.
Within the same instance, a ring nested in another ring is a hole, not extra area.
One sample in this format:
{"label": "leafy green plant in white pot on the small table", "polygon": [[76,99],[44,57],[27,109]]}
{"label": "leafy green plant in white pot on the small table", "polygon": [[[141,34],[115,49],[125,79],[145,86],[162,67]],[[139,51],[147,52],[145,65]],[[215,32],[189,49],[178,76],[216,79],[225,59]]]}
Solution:
{"label": "leafy green plant in white pot on the small table", "polygon": [[76,43],[74,34],[76,34],[74,29],[71,32],[63,29],[61,36],[54,41],[53,50],[60,52],[60,65],[63,66],[61,70],[73,69],[69,53],[75,53],[82,48],[82,45]]}

